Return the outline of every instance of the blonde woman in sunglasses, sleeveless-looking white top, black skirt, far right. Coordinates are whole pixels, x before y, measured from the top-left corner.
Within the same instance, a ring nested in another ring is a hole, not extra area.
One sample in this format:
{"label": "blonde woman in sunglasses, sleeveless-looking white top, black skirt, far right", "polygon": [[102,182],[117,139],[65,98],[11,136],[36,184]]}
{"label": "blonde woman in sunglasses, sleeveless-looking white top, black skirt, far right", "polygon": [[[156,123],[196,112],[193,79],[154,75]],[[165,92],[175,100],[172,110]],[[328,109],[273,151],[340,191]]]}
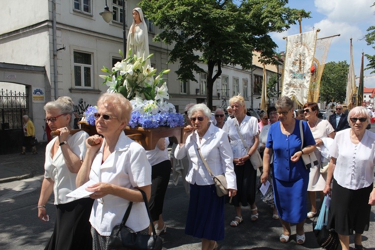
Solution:
{"label": "blonde woman in sunglasses, sleeveless-looking white top, black skirt, far right", "polygon": [[341,247],[349,250],[349,235],[356,250],[362,246],[362,233],[369,229],[371,206],[375,205],[375,133],[366,130],[370,116],[365,107],[354,107],[348,115],[351,128],[336,133],[329,149],[332,156],[324,193],[331,193],[327,228],[339,234]]}

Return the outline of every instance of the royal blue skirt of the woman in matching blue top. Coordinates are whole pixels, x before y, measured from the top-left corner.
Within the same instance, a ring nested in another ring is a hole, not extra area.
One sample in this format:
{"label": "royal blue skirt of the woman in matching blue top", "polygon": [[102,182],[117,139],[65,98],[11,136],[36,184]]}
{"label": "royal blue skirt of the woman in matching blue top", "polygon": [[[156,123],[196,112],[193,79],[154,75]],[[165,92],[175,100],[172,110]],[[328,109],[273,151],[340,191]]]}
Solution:
{"label": "royal blue skirt of the woman in matching blue top", "polygon": [[296,181],[273,179],[275,206],[280,218],[289,223],[300,223],[307,214],[308,178]]}

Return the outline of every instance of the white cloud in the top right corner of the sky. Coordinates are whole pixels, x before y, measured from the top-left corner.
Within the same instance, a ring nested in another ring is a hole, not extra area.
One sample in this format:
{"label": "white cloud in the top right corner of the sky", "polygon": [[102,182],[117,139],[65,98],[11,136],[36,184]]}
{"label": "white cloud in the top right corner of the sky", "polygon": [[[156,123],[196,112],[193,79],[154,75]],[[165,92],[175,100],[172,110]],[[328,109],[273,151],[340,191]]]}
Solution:
{"label": "white cloud in the top right corner of the sky", "polygon": [[332,22],[359,23],[374,20],[374,0],[315,0],[316,10]]}

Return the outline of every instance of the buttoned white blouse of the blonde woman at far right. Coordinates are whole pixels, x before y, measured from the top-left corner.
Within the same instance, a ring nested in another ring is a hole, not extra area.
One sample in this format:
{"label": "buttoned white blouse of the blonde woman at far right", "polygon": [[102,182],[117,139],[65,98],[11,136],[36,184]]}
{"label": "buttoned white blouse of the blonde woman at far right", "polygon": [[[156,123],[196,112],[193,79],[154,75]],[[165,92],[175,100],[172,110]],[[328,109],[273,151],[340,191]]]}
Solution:
{"label": "buttoned white blouse of the blonde woman at far right", "polygon": [[333,177],[345,188],[357,190],[374,181],[375,133],[365,130],[358,144],[350,141],[350,129],[336,133],[329,154],[337,158]]}

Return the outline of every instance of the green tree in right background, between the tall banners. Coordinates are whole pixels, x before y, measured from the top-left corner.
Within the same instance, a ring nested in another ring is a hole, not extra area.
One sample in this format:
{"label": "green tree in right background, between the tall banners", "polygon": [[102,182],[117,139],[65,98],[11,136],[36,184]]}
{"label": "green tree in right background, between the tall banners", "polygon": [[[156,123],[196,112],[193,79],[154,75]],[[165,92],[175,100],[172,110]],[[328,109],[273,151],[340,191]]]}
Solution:
{"label": "green tree in right background, between the tall banners", "polygon": [[345,101],[348,71],[347,61],[325,64],[320,83],[321,101],[326,101],[326,103],[331,101],[343,103]]}

